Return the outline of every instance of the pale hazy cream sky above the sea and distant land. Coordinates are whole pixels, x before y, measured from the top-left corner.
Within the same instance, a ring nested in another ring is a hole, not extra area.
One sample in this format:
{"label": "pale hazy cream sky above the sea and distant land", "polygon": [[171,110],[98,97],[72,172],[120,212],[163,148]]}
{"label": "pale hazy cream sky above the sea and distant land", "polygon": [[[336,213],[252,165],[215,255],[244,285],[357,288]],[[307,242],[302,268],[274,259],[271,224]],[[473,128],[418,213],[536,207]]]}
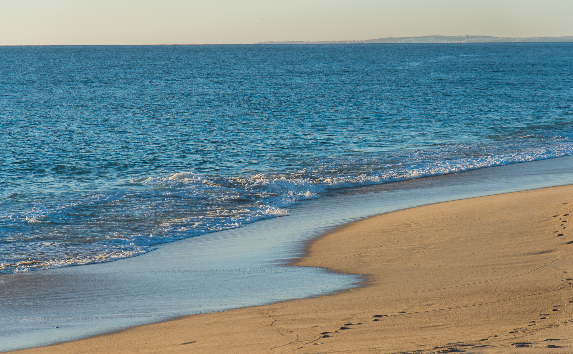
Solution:
{"label": "pale hazy cream sky above the sea and distant land", "polygon": [[0,0],[0,45],[573,36],[571,0]]}

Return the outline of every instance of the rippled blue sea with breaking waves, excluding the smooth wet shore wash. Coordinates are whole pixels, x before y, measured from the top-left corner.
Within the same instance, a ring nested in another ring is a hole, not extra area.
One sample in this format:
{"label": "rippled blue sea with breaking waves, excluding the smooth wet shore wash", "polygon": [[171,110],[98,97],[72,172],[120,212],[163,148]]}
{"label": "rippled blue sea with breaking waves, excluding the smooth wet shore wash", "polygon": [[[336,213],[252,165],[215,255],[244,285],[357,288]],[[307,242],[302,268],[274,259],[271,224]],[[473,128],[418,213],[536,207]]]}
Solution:
{"label": "rippled blue sea with breaking waves, excluding the smooth wet shore wash", "polygon": [[0,272],[573,155],[573,44],[0,47]]}

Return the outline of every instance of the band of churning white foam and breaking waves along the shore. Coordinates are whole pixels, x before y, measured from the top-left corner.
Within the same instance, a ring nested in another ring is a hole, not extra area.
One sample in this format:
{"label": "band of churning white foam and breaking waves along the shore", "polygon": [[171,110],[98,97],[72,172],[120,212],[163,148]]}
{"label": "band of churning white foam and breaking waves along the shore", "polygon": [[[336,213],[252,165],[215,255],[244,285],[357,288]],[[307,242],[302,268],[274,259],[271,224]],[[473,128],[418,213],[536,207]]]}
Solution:
{"label": "band of churning white foam and breaking waves along the shore", "polygon": [[[0,216],[3,225],[13,225],[15,230],[20,227],[18,225],[45,228],[42,229],[45,233],[32,238],[25,238],[23,232],[2,238],[0,253],[15,256],[0,259],[0,273],[134,257],[155,249],[159,243],[288,215],[289,206],[319,198],[322,192],[331,188],[417,179],[572,155],[569,135],[567,132],[553,134],[550,139],[560,143],[529,148],[525,145],[511,148],[453,145],[387,155],[324,158],[299,171],[233,177],[182,171],[132,180],[134,186],[143,189],[113,190],[61,205],[37,204],[26,212]],[[85,225],[101,226],[97,234],[89,234],[89,228],[81,239],[66,238],[62,234],[66,227],[72,229],[84,219]],[[128,224],[143,226],[124,227]],[[138,228],[143,230],[129,232]]]}

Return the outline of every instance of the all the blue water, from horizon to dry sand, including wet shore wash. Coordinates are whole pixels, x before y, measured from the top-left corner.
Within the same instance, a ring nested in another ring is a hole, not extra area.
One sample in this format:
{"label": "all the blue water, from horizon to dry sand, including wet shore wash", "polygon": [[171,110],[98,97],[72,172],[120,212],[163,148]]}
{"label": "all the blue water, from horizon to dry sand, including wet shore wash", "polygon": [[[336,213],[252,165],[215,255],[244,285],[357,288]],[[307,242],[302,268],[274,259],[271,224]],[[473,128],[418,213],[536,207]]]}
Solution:
{"label": "all the blue water, from horizon to dry sand, including wet shore wash", "polygon": [[362,286],[289,263],[369,215],[573,183],[572,54],[0,46],[0,351]]}

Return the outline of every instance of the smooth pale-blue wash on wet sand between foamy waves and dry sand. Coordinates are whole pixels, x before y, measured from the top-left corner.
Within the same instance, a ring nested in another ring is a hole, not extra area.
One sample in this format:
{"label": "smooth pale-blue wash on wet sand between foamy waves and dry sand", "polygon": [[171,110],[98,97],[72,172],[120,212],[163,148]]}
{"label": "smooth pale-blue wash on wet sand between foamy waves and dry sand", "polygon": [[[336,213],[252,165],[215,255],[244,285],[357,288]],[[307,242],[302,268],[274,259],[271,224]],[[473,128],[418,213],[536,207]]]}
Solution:
{"label": "smooth pale-blue wash on wet sand between foamy waves and dry sand", "polygon": [[285,266],[342,223],[445,200],[573,183],[573,156],[331,190],[291,215],[159,245],[141,257],[0,277],[0,350],[34,347],[183,314],[320,296],[360,277]]}

